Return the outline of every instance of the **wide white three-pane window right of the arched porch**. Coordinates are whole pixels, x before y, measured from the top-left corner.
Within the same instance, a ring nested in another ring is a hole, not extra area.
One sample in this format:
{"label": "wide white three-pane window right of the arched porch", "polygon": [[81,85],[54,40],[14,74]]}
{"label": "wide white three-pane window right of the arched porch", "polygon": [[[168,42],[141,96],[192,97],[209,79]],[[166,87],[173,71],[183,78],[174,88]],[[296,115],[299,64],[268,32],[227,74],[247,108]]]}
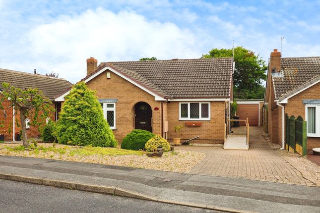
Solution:
{"label": "wide white three-pane window right of the arched porch", "polygon": [[179,120],[210,120],[210,102],[179,103]]}

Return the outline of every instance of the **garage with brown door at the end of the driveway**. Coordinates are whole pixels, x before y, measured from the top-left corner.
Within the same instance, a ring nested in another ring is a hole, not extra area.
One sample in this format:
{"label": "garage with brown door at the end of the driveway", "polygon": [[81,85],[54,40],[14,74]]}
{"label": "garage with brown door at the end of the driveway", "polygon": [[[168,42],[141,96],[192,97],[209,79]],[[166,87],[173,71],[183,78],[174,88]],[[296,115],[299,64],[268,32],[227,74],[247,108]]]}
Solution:
{"label": "garage with brown door at the end of the driveway", "polygon": [[[239,119],[249,119],[250,126],[260,126],[262,121],[262,100],[239,100],[236,115]],[[244,121],[240,122],[241,126],[246,125]]]}

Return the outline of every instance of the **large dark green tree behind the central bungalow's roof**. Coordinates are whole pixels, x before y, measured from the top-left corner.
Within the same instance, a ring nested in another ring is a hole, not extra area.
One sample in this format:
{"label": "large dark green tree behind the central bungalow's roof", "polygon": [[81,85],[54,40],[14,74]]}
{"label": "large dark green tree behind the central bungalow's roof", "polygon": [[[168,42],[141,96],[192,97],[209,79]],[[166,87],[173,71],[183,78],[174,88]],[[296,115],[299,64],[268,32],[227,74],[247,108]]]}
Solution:
{"label": "large dark green tree behind the central bungalow's roof", "polygon": [[[232,57],[232,49],[212,49],[204,58]],[[234,50],[235,73],[233,74],[234,97],[238,99],[262,99],[266,80],[265,61],[243,47]]]}

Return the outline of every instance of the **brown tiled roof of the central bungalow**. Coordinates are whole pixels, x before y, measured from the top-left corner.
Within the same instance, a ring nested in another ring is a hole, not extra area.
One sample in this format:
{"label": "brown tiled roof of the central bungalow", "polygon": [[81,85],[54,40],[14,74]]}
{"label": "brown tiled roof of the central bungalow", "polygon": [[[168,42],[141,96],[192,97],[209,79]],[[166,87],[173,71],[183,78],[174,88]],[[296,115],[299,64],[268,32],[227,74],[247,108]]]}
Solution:
{"label": "brown tiled roof of the central bungalow", "polygon": [[229,98],[233,60],[227,58],[104,62],[170,98]]}

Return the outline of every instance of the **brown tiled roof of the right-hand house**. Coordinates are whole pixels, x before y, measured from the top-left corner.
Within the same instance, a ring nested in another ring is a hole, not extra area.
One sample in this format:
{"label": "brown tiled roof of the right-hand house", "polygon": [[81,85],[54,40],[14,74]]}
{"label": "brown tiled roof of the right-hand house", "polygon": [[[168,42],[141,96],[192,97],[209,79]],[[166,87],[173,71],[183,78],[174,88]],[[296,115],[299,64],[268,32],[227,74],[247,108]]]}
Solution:
{"label": "brown tiled roof of the right-hand house", "polygon": [[320,57],[283,57],[281,70],[282,76],[272,76],[276,99],[317,78]]}

